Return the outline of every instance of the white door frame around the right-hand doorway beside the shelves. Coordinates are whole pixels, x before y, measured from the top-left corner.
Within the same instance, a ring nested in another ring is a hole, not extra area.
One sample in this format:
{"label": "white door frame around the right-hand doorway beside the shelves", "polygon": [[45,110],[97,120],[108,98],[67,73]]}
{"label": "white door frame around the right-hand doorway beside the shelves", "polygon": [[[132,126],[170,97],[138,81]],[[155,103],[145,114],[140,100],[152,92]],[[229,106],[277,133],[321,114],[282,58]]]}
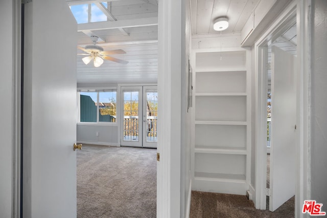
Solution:
{"label": "white door frame around the right-hand doorway beside the shelves", "polygon": [[310,80],[311,73],[311,0],[294,0],[279,15],[274,23],[262,34],[254,44],[255,58],[255,194],[254,204],[256,209],[266,209],[266,94],[268,89],[265,75],[263,53],[267,43],[276,34],[283,32],[283,27],[294,15],[297,27],[297,133],[296,133],[296,184],[295,184],[295,217],[305,217],[301,213],[303,201],[310,198]]}

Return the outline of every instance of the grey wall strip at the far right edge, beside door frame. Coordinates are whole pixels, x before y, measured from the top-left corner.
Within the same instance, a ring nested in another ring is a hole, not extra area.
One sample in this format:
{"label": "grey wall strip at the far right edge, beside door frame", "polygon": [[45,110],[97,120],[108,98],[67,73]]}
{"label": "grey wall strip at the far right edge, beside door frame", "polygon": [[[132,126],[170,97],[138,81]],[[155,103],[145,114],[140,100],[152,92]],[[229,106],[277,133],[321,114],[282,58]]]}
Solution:
{"label": "grey wall strip at the far right edge, beside door frame", "polygon": [[311,199],[327,211],[327,1],[312,1]]}

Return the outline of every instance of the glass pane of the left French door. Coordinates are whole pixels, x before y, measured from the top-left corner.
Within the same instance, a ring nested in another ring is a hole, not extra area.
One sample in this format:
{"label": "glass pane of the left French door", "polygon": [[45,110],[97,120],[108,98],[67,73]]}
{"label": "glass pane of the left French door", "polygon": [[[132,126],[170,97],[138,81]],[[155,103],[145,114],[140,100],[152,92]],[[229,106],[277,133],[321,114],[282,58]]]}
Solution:
{"label": "glass pane of the left French door", "polygon": [[124,141],[138,142],[138,103],[138,91],[124,91]]}

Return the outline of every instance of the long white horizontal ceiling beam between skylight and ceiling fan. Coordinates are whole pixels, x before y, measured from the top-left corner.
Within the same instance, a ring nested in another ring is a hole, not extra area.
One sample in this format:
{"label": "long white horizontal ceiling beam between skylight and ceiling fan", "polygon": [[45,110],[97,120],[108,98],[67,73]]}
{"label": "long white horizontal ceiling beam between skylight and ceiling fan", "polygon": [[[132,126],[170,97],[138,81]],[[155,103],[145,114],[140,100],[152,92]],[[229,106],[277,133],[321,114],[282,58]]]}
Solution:
{"label": "long white horizontal ceiling beam between skylight and ceiling fan", "polygon": [[158,17],[147,17],[138,19],[115,20],[115,21],[100,21],[95,23],[78,24],[77,31],[83,32],[84,30],[109,30],[130,27],[147,27],[157,26]]}

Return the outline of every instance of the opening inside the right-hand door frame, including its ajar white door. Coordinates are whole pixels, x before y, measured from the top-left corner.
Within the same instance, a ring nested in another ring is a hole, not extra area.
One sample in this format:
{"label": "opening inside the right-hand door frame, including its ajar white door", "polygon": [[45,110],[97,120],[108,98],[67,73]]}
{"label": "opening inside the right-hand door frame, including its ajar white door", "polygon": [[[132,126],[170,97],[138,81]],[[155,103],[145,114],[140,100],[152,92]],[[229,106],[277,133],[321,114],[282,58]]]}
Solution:
{"label": "opening inside the right-hand door frame, including its ajar white door", "polygon": [[[296,120],[296,20],[291,19],[281,34],[267,42],[267,155],[266,208],[274,211],[295,194],[295,120]],[[287,174],[289,179],[283,175]],[[283,180],[288,180],[288,185]],[[272,185],[273,184],[273,185]],[[285,187],[288,190],[283,190]],[[273,189],[272,189],[273,188]],[[290,204],[290,203],[289,203]]]}

